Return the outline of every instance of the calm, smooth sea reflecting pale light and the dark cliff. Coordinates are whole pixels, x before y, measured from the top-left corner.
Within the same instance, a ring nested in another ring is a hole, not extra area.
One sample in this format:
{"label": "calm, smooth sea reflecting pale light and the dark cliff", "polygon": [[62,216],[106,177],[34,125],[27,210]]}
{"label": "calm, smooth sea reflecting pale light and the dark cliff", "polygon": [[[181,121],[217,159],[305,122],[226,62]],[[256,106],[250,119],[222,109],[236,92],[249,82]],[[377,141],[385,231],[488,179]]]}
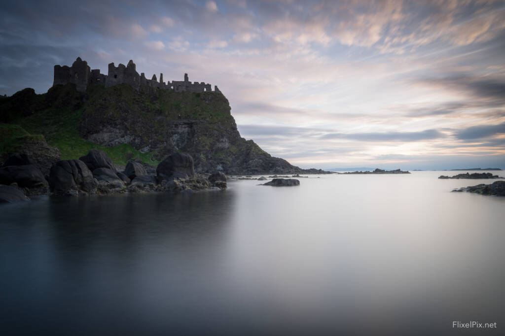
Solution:
{"label": "calm, smooth sea reflecting pale light and the dark cliff", "polygon": [[504,334],[505,198],[447,173],[2,205],[0,334]]}

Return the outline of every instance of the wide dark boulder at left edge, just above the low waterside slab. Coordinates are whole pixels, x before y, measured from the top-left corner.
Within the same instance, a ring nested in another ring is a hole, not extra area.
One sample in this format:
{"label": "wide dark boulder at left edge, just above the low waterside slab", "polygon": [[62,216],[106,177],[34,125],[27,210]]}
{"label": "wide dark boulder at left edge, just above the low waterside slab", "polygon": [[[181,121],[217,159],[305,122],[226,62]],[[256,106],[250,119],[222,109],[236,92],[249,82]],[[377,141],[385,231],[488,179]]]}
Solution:
{"label": "wide dark boulder at left edge, just above the low waterside slab", "polygon": [[17,183],[23,188],[47,188],[42,172],[34,164],[10,165],[0,168],[0,184]]}

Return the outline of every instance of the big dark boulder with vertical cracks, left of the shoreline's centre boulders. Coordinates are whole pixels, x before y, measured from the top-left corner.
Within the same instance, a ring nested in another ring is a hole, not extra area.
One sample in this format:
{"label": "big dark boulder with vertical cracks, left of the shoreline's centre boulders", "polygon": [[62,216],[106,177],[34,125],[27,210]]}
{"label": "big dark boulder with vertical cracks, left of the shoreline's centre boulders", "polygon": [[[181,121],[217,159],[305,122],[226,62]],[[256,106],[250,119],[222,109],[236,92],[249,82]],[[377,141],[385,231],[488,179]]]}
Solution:
{"label": "big dark boulder with vertical cracks, left of the shoreline's centre boulders", "polygon": [[81,160],[61,160],[51,167],[49,186],[55,194],[74,194],[74,191],[94,192],[97,182]]}

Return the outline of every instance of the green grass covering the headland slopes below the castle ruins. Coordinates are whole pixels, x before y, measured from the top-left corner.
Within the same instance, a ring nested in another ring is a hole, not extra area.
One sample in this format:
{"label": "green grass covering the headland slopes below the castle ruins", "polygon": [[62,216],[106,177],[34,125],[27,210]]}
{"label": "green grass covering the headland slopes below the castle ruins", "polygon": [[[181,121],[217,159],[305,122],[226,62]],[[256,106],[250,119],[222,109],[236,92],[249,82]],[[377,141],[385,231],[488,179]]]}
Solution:
{"label": "green grass covering the headland slopes below the castle ruins", "polygon": [[0,101],[0,114],[11,118],[7,121],[9,124],[0,124],[0,153],[12,151],[23,139],[39,137],[57,147],[62,159],[76,159],[97,148],[104,150],[116,164],[138,158],[157,165],[162,153],[141,153],[129,144],[106,147],[85,140],[78,131],[81,117],[94,120],[93,129],[108,120],[130,116],[127,121],[131,123],[131,131],[147,142],[163,141],[171,121],[197,120],[210,130],[199,139],[202,148],[207,150],[212,149],[216,140],[214,133],[236,128],[227,99],[216,92],[158,90],[139,93],[126,84],[110,88],[93,85],[85,93],[77,92],[71,84],[51,88],[40,95],[32,91],[25,89],[16,97]]}

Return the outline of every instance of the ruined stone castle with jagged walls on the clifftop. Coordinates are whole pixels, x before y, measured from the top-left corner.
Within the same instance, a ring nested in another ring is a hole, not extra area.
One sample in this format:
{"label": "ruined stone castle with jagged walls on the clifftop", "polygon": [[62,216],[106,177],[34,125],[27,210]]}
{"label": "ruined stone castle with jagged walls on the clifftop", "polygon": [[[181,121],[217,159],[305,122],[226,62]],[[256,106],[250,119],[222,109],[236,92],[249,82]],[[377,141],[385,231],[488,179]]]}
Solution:
{"label": "ruined stone castle with jagged walls on the clifftop", "polygon": [[[117,67],[114,63],[109,64],[109,74],[100,73],[99,69],[93,69],[88,66],[86,61],[78,57],[71,67],[55,65],[55,78],[53,86],[59,84],[73,83],[77,87],[77,91],[86,91],[88,85],[105,84],[105,87],[111,87],[117,84],[126,83],[139,91],[141,88],[152,87],[162,90],[173,90],[175,92],[208,92],[212,91],[211,84],[204,82],[191,83],[188,79],[188,74],[184,74],[183,81],[172,81],[165,83],[163,74],[160,74],[160,81],[156,75],[151,79],[145,78],[144,73],[138,74],[135,63],[132,60],[127,66],[119,64]],[[221,92],[218,87],[214,86],[215,92]]]}

